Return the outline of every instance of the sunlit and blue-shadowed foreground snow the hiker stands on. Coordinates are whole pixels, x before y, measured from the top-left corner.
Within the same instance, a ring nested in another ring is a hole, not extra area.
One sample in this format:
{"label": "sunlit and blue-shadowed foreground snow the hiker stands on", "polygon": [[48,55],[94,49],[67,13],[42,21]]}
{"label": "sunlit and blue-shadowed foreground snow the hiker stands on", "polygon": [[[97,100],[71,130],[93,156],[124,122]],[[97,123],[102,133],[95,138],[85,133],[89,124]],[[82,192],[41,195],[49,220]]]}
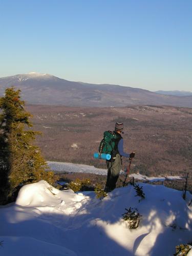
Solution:
{"label": "sunlit and blue-shadowed foreground snow the hiker stands on", "polygon": [[[0,206],[0,254],[8,255],[173,255],[192,241],[192,195],[163,185],[138,183],[116,188],[99,200],[93,191],[58,190],[46,181],[25,185],[15,203]],[[125,208],[137,208],[140,225],[129,229]]]}

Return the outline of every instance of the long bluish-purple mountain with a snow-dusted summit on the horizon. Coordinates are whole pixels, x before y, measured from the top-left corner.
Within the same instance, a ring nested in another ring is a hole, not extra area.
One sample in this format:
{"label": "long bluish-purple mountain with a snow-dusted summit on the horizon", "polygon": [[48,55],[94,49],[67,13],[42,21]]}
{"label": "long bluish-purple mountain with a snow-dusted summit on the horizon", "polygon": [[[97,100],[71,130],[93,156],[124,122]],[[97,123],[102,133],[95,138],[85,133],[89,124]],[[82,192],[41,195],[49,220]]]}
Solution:
{"label": "long bluish-purple mountain with a snow-dusted summit on the horizon", "polygon": [[73,82],[35,72],[0,78],[0,95],[11,86],[19,88],[22,98],[32,104],[99,107],[174,105],[192,108],[192,95],[180,97],[115,84]]}

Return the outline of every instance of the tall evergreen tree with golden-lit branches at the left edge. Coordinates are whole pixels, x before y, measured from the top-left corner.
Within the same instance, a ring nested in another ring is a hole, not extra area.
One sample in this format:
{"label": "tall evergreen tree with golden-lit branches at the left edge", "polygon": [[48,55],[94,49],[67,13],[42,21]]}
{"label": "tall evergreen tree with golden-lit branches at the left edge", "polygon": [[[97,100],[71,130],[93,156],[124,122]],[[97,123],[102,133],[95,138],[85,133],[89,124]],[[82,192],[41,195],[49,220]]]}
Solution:
{"label": "tall evergreen tree with golden-lit branches at the left edge", "polygon": [[40,133],[31,130],[32,115],[24,106],[20,90],[13,87],[0,98],[0,204],[5,204],[22,185],[42,179],[54,182],[39,148],[32,144]]}

